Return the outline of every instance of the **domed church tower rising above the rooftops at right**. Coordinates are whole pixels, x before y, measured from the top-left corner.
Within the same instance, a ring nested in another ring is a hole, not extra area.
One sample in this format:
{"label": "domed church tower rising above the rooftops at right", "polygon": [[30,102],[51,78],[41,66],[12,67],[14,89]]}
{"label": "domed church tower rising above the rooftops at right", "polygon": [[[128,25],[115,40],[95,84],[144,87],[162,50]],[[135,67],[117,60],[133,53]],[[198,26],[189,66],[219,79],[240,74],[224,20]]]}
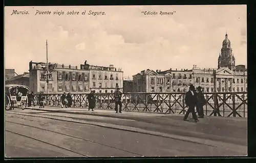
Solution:
{"label": "domed church tower rising above the rooftops at right", "polygon": [[218,68],[229,68],[234,70],[236,59],[233,56],[230,40],[227,38],[227,33],[225,39],[222,42],[221,54],[218,59]]}

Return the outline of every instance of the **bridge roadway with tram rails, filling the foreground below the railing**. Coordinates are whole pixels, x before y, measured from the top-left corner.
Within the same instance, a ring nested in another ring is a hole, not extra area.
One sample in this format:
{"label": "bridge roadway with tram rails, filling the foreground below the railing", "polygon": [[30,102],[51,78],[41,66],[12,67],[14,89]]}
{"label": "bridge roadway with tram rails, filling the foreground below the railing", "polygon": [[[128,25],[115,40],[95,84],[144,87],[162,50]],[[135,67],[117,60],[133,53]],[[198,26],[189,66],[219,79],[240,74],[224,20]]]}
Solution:
{"label": "bridge roadway with tram rails, filling the foreground below the railing", "polygon": [[[5,112],[6,157],[247,155],[247,118],[32,107]],[[189,119],[189,118],[188,118]]]}

